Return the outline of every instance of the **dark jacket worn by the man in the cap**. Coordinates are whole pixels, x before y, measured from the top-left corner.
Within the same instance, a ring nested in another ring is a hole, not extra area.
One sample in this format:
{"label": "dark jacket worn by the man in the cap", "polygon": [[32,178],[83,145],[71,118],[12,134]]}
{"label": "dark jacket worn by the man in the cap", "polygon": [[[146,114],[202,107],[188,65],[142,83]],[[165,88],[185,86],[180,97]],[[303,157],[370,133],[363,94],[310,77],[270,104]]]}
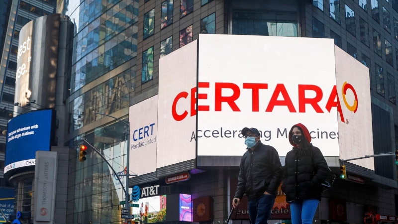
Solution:
{"label": "dark jacket worn by the man in the cap", "polygon": [[247,148],[240,161],[238,187],[235,198],[242,199],[246,193],[253,200],[266,191],[276,197],[283,170],[277,150],[259,141],[254,150]]}

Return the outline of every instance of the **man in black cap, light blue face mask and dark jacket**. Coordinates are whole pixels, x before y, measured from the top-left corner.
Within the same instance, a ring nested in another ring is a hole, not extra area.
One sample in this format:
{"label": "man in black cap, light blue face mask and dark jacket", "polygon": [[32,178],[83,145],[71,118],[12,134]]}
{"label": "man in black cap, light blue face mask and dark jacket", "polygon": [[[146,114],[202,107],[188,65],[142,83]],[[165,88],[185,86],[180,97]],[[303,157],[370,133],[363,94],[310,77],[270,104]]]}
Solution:
{"label": "man in black cap, light blue face mask and dark jacket", "polygon": [[261,143],[261,135],[256,128],[245,127],[242,129],[242,135],[247,151],[240,161],[238,187],[232,205],[238,206],[246,194],[250,223],[265,224],[270,218],[282,181],[282,164],[277,150]]}

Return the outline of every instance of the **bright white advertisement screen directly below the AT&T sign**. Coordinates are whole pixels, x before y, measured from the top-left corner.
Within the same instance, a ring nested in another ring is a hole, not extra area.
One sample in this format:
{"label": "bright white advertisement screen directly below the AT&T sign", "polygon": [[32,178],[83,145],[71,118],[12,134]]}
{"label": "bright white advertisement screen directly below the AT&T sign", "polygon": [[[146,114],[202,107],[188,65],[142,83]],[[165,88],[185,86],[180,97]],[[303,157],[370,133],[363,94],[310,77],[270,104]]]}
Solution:
{"label": "bright white advertisement screen directly below the AT&T sign", "polygon": [[166,198],[166,195],[154,196],[134,203],[139,205],[139,208],[132,208],[134,222],[146,224],[166,221]]}

